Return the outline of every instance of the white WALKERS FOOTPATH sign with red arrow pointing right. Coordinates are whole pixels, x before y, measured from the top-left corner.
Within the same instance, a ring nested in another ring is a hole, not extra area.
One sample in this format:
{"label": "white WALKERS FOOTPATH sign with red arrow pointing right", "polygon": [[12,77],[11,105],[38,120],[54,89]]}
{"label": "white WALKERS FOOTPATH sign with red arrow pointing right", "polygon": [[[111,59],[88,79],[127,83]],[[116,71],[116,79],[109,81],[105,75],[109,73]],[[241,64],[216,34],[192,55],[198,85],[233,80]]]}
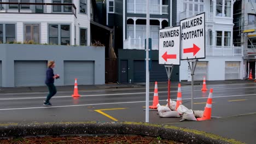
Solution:
{"label": "white WALKERS FOOTPATH sign with red arrow pointing right", "polygon": [[181,20],[181,59],[205,58],[205,13]]}

